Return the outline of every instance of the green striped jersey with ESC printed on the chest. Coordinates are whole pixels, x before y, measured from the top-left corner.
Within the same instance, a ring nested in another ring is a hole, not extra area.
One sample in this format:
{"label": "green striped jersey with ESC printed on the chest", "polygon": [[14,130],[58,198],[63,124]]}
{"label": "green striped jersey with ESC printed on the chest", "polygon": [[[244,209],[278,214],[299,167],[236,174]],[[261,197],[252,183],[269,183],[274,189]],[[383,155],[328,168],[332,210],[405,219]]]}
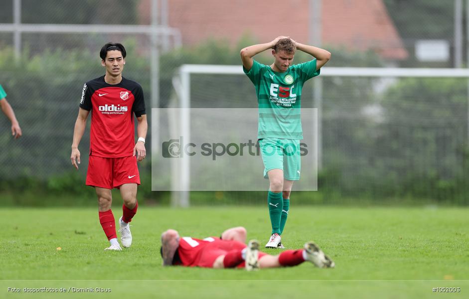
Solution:
{"label": "green striped jersey with ESC printed on the chest", "polygon": [[259,104],[258,139],[303,139],[301,127],[301,90],[308,79],[319,75],[316,59],[295,64],[284,73],[253,59],[252,68],[244,73],[256,88]]}

